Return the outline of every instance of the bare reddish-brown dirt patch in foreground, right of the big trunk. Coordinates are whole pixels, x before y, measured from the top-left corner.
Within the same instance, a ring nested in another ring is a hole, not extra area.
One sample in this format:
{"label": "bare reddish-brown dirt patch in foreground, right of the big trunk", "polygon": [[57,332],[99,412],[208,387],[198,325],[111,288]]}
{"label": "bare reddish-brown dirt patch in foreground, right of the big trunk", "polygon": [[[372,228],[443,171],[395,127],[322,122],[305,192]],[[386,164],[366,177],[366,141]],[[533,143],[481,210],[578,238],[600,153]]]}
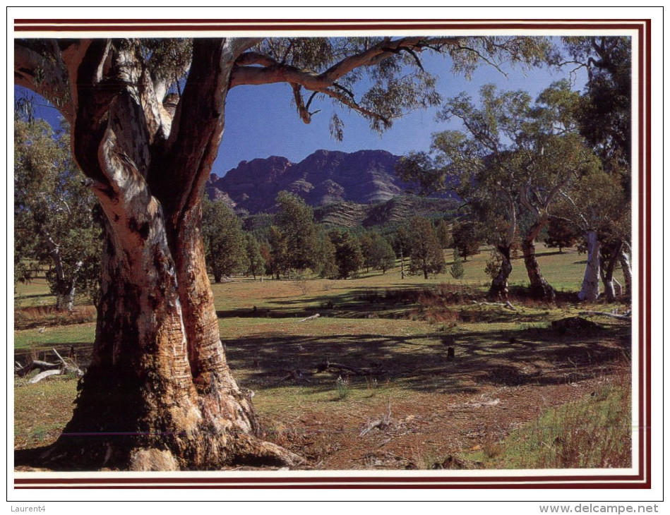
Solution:
{"label": "bare reddish-brown dirt patch in foreground, right of the big trunk", "polygon": [[591,398],[614,376],[630,377],[629,345],[621,338],[572,335],[501,346],[495,355],[460,350],[452,360],[429,355],[417,363],[414,356],[411,370],[390,365],[395,380],[405,375],[406,395],[368,388],[355,401],[331,395],[331,408],[306,402],[264,415],[265,428],[275,428],[268,438],[304,456],[308,469],[479,468],[459,456],[496,445],[546,408]]}

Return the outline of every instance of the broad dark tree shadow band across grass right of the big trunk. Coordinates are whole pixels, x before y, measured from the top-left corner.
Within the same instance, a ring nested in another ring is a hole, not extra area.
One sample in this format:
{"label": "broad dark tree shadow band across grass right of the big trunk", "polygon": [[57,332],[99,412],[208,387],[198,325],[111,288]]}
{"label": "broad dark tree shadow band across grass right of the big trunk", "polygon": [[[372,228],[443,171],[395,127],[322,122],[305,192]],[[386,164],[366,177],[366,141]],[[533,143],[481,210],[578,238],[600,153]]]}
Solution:
{"label": "broad dark tree shadow band across grass right of the big trunk", "polygon": [[[630,329],[617,323],[602,325],[590,334],[551,328],[436,332],[419,337],[307,337],[275,332],[224,341],[233,371],[249,371],[244,380],[247,387],[294,384],[314,392],[332,390],[338,375],[361,381],[365,377],[390,380],[421,392],[474,392],[484,384],[566,384],[606,374],[630,355]],[[453,358],[448,356],[450,347]],[[368,375],[335,368],[315,373],[325,360]]]}

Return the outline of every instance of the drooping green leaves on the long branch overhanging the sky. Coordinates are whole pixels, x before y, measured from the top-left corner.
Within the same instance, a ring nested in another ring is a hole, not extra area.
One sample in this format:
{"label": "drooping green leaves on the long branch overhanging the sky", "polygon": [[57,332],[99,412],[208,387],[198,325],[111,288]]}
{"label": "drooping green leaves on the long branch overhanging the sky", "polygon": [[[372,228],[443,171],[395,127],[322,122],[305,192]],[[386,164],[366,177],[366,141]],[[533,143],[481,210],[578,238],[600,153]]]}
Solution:
{"label": "drooping green leaves on the long branch overhanging the sky", "polygon": [[[356,109],[377,132],[389,128],[409,111],[439,104],[436,77],[422,66],[422,54],[445,54],[453,72],[467,76],[484,61],[494,66],[501,61],[539,66],[558,60],[554,43],[545,37],[457,37],[450,44],[419,38],[412,47],[402,49],[393,48],[394,42],[389,37],[273,37],[263,40],[254,50],[282,65],[319,75],[346,56],[365,54],[377,45],[388,47],[385,59],[376,62],[376,66],[352,69],[337,79],[335,94],[328,92],[340,106]],[[358,102],[354,101],[354,91],[360,91],[356,95]],[[306,120],[321,110],[312,107],[312,112],[306,112],[307,108],[312,103],[318,105],[324,97],[312,95],[304,102],[301,88],[294,88],[297,105],[306,104],[301,113]],[[343,129],[342,120],[333,114],[330,133],[341,140]]]}

